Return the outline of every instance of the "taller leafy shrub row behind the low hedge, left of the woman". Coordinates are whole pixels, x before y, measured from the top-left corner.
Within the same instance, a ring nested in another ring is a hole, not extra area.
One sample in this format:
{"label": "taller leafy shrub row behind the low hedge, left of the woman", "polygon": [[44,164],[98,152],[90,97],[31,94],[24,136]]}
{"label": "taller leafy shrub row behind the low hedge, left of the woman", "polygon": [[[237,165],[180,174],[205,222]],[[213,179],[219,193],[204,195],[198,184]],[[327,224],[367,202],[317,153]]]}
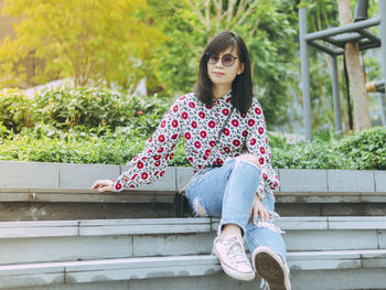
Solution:
{"label": "taller leafy shrub row behind the low hedge, left of the woman", "polygon": [[0,123],[14,132],[41,123],[67,131],[72,128],[103,130],[136,128],[153,131],[173,99],[131,96],[105,88],[57,88],[28,97],[18,90],[0,90]]}

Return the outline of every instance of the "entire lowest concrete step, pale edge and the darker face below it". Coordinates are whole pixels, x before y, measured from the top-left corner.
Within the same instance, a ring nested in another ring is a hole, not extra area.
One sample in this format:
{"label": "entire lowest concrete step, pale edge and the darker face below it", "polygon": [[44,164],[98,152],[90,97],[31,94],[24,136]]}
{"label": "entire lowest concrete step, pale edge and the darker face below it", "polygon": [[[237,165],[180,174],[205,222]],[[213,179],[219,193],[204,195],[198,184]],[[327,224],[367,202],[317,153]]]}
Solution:
{"label": "entire lowest concrete step, pale edge and the darker face below it", "polygon": [[[384,289],[386,250],[290,253],[292,289]],[[215,256],[146,257],[0,266],[0,289],[254,289]]]}

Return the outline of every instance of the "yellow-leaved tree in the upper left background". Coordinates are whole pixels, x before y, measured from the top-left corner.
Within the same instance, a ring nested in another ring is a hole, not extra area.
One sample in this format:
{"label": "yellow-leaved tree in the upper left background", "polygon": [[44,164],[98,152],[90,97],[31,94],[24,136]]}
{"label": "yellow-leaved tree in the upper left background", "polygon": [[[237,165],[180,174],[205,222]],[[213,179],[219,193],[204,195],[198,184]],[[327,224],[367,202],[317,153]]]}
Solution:
{"label": "yellow-leaved tree in the upper left background", "polygon": [[25,78],[20,60],[32,55],[43,64],[35,68],[35,83],[74,77],[77,86],[132,88],[164,41],[147,9],[143,0],[6,0],[2,13],[22,20],[14,26],[17,37],[0,46],[0,72]]}

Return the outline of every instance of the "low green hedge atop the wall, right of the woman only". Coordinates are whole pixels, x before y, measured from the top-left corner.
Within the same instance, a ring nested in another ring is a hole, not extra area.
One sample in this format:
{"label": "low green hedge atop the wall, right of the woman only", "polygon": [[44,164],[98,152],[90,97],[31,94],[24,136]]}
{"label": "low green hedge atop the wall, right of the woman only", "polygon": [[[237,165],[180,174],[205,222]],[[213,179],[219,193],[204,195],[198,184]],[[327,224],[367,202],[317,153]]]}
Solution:
{"label": "low green hedge atop the wall, right of the woman only", "polygon": [[312,143],[289,144],[272,139],[272,164],[277,168],[386,170],[385,128],[352,132],[342,139],[322,132]]}

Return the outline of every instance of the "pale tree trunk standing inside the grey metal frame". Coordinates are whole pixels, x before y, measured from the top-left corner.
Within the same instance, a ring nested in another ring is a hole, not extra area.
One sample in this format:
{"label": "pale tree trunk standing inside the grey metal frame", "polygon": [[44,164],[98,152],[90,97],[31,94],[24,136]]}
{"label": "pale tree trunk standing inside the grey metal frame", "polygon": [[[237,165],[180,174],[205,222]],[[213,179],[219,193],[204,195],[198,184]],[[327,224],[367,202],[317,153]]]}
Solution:
{"label": "pale tree trunk standing inside the grey metal frame", "polygon": [[[350,0],[337,0],[341,25],[353,23]],[[356,42],[347,42],[344,46],[346,57],[350,88],[354,101],[354,130],[371,128],[368,96],[365,76],[360,61],[360,50]]]}

